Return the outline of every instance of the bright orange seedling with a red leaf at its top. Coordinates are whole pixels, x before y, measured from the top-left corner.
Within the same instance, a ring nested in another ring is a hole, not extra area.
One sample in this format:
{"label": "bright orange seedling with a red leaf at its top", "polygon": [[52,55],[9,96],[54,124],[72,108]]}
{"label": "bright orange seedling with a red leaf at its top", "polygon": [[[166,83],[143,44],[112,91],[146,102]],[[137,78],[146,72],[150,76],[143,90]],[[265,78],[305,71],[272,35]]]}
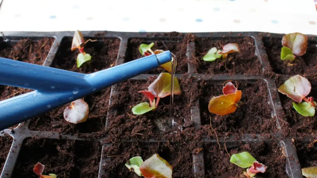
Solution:
{"label": "bright orange seedling with a red leaf at its top", "polygon": [[241,99],[242,92],[228,82],[223,87],[223,95],[212,97],[208,104],[208,110],[210,113],[216,115],[227,115],[234,113],[237,108],[237,103]]}

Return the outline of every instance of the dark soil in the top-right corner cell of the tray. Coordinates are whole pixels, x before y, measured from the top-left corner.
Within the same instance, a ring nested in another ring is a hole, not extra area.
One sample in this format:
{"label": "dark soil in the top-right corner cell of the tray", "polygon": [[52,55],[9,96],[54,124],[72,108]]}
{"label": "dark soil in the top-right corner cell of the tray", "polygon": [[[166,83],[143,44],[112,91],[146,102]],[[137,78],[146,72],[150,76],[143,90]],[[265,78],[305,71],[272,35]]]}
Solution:
{"label": "dark soil in the top-right corner cell of the tray", "polygon": [[303,56],[296,56],[294,61],[281,60],[282,39],[263,38],[268,60],[273,72],[284,75],[314,76],[317,74],[317,46],[316,42],[308,41],[307,51]]}

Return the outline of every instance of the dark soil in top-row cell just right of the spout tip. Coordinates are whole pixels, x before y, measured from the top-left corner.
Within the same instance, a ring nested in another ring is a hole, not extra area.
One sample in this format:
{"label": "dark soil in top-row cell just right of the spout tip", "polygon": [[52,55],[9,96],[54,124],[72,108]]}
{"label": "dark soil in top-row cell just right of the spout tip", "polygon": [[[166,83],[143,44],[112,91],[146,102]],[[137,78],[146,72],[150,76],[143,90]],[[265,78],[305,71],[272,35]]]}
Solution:
{"label": "dark soil in top-row cell just right of the spout tip", "polygon": [[[195,58],[198,61],[198,73],[259,75],[262,71],[262,65],[255,54],[256,47],[252,37],[226,37],[219,40],[213,38],[197,38],[195,43]],[[203,61],[203,57],[207,54],[209,49],[212,47],[222,49],[222,46],[227,43],[239,44],[241,53],[231,53],[226,60],[216,59],[213,62]]]}

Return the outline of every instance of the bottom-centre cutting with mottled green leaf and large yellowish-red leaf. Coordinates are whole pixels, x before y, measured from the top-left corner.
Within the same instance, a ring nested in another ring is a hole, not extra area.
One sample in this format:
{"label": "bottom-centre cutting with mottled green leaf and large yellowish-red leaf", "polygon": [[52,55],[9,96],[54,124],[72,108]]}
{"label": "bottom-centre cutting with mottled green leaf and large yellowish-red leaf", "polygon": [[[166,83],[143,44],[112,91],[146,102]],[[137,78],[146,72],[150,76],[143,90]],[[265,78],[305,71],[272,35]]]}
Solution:
{"label": "bottom-centre cutting with mottled green leaf and large yellowish-red leaf", "polygon": [[143,162],[142,157],[136,156],[131,158],[125,166],[139,176],[146,178],[171,178],[171,165],[158,154],[152,155]]}

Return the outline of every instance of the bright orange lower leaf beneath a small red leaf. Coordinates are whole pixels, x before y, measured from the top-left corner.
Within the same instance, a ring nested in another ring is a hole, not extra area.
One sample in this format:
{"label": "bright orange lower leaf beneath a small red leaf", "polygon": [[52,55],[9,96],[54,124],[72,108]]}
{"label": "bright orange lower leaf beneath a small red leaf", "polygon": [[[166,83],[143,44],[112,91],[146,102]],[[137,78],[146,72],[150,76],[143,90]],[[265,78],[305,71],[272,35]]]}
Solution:
{"label": "bright orange lower leaf beneath a small red leaf", "polygon": [[208,104],[210,113],[216,115],[227,115],[236,111],[236,103],[240,101],[242,92],[237,90],[236,93],[221,95],[211,98]]}

